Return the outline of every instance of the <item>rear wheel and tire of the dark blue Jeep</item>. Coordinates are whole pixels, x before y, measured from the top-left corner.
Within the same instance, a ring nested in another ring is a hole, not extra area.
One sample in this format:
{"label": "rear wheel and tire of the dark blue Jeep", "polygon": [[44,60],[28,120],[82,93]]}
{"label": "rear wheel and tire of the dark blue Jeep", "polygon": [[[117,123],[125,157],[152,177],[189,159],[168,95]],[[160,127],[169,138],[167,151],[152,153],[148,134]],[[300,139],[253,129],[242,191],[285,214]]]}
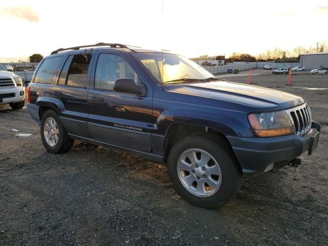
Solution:
{"label": "rear wheel and tire of the dark blue Jeep", "polygon": [[[52,137],[50,137],[50,142],[49,137],[45,136],[46,131],[48,135],[50,131],[53,133]],[[74,140],[68,136],[67,131],[64,129],[63,125],[61,125],[58,115],[53,110],[46,111],[42,116],[40,132],[43,145],[47,152],[53,154],[66,153],[74,145]],[[58,134],[56,134],[56,132],[58,132]]]}

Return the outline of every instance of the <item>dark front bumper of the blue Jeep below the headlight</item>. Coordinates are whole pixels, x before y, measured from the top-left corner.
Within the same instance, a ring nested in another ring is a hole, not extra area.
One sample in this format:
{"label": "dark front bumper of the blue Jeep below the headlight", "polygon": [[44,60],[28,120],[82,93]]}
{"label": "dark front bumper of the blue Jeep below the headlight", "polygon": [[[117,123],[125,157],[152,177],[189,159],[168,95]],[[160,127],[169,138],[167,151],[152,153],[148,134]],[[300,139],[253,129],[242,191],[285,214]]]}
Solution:
{"label": "dark front bumper of the blue Jeep below the headlight", "polygon": [[272,168],[281,168],[309,150],[311,136],[320,132],[320,124],[312,121],[311,130],[304,136],[229,137],[232,149],[244,176],[256,176]]}

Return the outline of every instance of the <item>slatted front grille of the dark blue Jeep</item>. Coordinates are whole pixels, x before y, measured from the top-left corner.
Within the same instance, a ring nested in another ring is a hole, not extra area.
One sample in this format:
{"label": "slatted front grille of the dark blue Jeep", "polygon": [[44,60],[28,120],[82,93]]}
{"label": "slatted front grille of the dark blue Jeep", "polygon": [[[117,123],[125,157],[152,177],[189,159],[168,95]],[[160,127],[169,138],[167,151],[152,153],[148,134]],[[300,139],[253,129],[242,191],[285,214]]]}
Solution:
{"label": "slatted front grille of the dark blue Jeep", "polygon": [[296,135],[304,135],[308,133],[312,125],[312,116],[310,107],[302,105],[296,108],[286,110],[291,118]]}

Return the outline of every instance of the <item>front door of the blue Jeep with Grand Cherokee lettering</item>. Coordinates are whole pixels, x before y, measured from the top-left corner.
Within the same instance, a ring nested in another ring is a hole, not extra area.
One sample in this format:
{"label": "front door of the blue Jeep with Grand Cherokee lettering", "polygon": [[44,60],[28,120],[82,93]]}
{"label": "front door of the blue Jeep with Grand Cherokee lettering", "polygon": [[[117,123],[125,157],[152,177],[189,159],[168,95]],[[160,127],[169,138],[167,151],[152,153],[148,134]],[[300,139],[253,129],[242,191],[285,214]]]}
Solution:
{"label": "front door of the blue Jeep with Grand Cherokee lettering", "polygon": [[101,50],[95,58],[88,93],[89,132],[92,139],[133,150],[151,152],[152,88],[137,96],[113,90],[118,78],[132,78],[145,86],[145,74],[126,52]]}

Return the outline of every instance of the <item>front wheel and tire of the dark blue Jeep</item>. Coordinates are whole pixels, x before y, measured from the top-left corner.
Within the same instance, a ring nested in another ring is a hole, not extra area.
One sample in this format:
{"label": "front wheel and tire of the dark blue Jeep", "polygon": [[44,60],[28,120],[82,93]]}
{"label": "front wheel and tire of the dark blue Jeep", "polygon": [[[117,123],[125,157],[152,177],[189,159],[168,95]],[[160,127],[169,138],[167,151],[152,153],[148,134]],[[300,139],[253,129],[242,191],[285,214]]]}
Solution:
{"label": "front wheel and tire of the dark blue Jeep", "polygon": [[[226,140],[221,138],[208,135],[187,136],[178,141],[170,151],[168,172],[172,185],[183,199],[195,206],[219,207],[231,200],[239,190],[242,180],[239,163],[232,150],[227,147]],[[196,158],[193,161],[188,158],[195,156],[193,153],[197,153],[197,158],[200,156],[200,162],[196,162]],[[202,156],[209,160],[201,163]],[[189,171],[183,170],[188,168]]]}

